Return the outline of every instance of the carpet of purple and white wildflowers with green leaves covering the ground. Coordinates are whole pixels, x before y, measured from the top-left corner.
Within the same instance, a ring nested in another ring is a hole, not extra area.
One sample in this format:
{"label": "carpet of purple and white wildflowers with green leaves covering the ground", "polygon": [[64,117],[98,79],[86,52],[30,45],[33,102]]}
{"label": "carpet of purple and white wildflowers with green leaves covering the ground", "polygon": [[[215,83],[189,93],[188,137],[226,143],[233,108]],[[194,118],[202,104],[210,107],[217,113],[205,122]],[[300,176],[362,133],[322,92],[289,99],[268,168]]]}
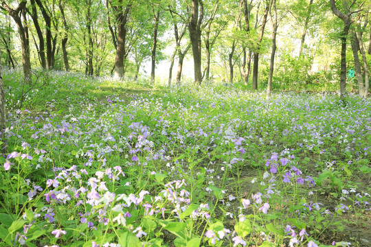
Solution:
{"label": "carpet of purple and white wildflowers with green leaves covering the ground", "polygon": [[370,99],[3,78],[0,246],[370,246]]}

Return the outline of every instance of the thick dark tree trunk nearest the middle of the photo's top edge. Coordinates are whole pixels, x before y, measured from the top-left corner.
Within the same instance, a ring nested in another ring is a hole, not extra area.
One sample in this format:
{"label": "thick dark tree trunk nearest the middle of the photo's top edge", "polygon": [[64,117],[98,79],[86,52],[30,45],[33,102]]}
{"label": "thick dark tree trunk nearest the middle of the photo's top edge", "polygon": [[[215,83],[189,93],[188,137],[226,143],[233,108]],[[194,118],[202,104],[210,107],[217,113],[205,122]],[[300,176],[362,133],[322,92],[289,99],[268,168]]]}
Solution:
{"label": "thick dark tree trunk nearest the middle of the photo's top edge", "polygon": [[[199,8],[200,7],[200,8]],[[199,14],[200,9],[200,14]],[[194,62],[194,82],[201,84],[201,23],[203,21],[203,3],[200,0],[192,0],[192,14],[188,30],[192,44],[193,62]]]}

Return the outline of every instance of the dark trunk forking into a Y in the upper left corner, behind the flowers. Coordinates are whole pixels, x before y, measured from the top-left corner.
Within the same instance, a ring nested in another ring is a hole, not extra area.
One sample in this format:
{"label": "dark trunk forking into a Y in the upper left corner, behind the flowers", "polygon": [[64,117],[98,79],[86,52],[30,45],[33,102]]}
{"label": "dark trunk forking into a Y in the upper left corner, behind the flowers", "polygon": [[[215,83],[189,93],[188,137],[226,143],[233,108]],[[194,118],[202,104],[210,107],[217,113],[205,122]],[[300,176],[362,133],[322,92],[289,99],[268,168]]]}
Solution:
{"label": "dark trunk forking into a Y in the upper left corner, behind the flowers", "polygon": [[22,49],[22,66],[23,74],[25,76],[25,82],[30,84],[32,82],[31,75],[31,61],[30,61],[30,43],[27,39],[27,33],[25,26],[21,20],[21,12],[25,10],[27,1],[21,1],[16,8],[11,8],[5,1],[1,1],[1,8],[6,10],[18,27],[19,38],[21,39],[21,49]]}

